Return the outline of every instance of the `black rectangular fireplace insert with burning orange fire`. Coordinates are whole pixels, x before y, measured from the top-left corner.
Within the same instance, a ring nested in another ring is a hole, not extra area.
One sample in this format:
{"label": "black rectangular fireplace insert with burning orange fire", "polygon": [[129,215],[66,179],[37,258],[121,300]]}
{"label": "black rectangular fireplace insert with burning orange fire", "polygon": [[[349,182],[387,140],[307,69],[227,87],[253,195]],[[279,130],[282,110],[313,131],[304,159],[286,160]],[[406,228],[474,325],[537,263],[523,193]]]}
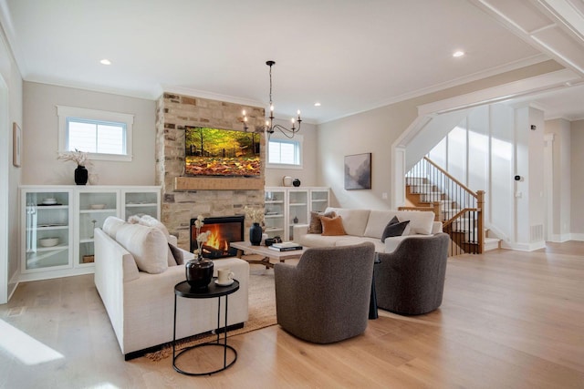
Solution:
{"label": "black rectangular fireplace insert with burning orange fire", "polygon": [[[195,220],[191,219],[191,252],[198,248]],[[211,233],[207,241],[203,243],[203,257],[214,260],[235,256],[237,249],[232,249],[229,243],[244,240],[244,220],[244,216],[205,218],[201,232],[210,231]]]}

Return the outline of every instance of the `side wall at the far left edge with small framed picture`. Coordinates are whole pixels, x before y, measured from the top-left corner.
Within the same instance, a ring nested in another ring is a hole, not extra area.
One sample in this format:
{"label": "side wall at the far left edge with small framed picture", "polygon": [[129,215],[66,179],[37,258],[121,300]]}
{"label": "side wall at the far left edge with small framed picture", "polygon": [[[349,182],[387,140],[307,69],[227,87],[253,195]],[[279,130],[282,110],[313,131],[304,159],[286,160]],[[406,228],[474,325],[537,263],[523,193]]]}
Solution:
{"label": "side wall at the far left edge with small framed picture", "polygon": [[12,164],[12,124],[16,122],[21,128],[23,123],[22,90],[23,83],[16,61],[7,44],[3,30],[0,28],[0,303],[16,289],[19,264],[19,230],[18,186],[22,170]]}

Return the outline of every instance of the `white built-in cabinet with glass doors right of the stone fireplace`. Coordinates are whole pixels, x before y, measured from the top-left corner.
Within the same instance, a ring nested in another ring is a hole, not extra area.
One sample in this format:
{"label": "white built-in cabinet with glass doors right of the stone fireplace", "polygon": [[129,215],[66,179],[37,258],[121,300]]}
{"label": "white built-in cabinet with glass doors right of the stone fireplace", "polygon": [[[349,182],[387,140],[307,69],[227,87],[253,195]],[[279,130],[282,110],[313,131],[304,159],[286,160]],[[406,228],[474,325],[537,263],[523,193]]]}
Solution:
{"label": "white built-in cabinet with glass doors right of the stone fireplace", "polygon": [[310,211],[328,207],[329,189],[323,187],[266,187],[265,229],[270,237],[294,240],[294,225],[308,224]]}

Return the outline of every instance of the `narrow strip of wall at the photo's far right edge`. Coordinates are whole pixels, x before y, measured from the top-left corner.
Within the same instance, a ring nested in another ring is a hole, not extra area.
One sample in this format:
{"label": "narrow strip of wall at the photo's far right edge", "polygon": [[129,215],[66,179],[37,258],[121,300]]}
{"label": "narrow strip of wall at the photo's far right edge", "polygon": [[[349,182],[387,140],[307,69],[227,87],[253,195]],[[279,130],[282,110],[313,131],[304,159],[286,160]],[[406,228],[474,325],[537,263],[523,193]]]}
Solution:
{"label": "narrow strip of wall at the photo's far right edge", "polygon": [[572,122],[570,129],[572,239],[584,241],[584,120]]}

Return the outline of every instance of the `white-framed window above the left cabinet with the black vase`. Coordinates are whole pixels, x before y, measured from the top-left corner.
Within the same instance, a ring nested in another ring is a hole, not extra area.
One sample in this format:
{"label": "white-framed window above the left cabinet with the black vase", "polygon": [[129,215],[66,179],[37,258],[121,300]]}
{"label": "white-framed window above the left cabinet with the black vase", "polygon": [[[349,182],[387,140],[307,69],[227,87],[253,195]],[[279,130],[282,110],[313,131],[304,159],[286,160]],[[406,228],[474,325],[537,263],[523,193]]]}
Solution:
{"label": "white-framed window above the left cabinet with the black vase", "polygon": [[57,106],[59,151],[75,149],[90,159],[131,160],[133,115]]}

